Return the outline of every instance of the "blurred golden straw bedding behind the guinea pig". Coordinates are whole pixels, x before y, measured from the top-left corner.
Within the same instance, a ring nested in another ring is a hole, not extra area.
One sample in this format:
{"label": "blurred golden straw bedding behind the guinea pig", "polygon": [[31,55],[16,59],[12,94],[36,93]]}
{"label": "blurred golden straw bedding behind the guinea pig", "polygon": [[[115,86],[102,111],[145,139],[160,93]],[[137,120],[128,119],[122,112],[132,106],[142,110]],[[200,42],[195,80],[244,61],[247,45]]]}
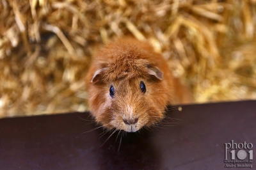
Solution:
{"label": "blurred golden straw bedding behind the guinea pig", "polygon": [[196,102],[256,98],[256,1],[0,3],[0,117],[86,111],[102,43],[149,40]]}

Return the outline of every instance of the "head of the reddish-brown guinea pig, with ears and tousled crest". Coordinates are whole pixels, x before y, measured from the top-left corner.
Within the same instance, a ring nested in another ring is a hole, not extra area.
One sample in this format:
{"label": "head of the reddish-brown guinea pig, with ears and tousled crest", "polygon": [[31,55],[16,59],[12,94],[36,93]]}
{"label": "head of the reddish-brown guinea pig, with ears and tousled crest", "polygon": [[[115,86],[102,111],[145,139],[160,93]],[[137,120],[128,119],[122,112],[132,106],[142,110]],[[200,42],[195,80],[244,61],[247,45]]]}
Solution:
{"label": "head of the reddish-brown guinea pig, with ears and tousled crest", "polygon": [[168,89],[157,66],[132,56],[106,63],[94,72],[88,91],[98,123],[108,129],[136,132],[163,119]]}

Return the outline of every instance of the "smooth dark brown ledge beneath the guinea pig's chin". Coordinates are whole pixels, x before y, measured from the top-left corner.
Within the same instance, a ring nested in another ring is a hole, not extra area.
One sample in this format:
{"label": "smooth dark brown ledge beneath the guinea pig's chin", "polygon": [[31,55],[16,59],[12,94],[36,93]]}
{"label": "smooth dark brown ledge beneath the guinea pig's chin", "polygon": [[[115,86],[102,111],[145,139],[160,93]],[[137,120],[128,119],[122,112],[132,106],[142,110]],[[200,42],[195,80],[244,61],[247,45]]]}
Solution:
{"label": "smooth dark brown ledge beneath the guinea pig's chin", "polygon": [[256,159],[256,101],[184,105],[167,117],[124,134],[119,151],[117,133],[88,132],[97,127],[88,112],[4,118],[0,169],[224,169],[231,140],[252,143]]}

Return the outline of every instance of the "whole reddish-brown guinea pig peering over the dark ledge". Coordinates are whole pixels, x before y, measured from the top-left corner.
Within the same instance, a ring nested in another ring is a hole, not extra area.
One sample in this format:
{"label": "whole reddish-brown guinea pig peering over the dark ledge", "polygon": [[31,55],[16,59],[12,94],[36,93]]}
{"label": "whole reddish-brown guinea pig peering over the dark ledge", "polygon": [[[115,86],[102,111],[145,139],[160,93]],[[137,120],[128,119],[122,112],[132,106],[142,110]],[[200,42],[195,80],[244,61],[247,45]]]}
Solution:
{"label": "whole reddish-brown guinea pig peering over the dark ledge", "polygon": [[146,42],[123,38],[104,46],[86,76],[95,120],[108,129],[136,132],[164,118],[170,104],[190,102],[166,60]]}

